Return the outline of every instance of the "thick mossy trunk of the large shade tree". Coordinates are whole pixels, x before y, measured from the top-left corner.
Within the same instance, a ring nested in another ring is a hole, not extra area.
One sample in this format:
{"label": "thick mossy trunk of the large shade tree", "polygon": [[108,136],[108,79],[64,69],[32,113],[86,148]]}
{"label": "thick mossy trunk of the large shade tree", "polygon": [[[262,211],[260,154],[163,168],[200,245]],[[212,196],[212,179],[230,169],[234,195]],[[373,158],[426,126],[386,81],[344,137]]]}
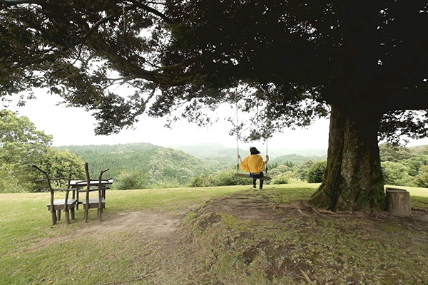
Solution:
{"label": "thick mossy trunk of the large shade tree", "polygon": [[367,106],[332,105],[327,170],[310,204],[332,210],[384,208],[377,142],[381,115]]}

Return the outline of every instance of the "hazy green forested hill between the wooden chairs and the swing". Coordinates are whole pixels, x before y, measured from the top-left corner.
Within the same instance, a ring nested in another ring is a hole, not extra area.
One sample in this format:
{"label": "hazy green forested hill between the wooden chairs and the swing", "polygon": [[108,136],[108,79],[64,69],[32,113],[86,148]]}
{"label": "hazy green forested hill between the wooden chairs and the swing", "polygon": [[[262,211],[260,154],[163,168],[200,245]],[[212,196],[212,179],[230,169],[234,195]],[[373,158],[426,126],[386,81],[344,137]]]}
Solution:
{"label": "hazy green forested hill between the wooden chairs and the swing", "polygon": [[[172,148],[150,143],[123,145],[69,145],[59,147],[70,150],[88,162],[92,177],[109,168],[109,177],[143,177],[145,187],[178,187],[186,185],[200,174],[209,175],[223,169],[220,162],[200,160]],[[231,165],[230,165],[231,166]]]}

